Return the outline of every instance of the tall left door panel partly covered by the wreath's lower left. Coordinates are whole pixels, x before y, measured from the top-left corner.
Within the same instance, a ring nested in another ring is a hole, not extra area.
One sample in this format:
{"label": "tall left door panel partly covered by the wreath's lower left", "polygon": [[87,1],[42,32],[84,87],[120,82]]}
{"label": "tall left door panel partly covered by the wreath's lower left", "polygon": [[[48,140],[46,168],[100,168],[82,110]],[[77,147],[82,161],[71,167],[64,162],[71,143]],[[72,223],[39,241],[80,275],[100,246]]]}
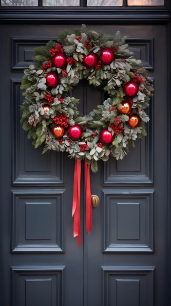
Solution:
{"label": "tall left door panel partly covered by the wreath's lower left", "polygon": [[50,152],[42,155],[43,146],[34,149],[32,140],[20,124],[23,96],[20,90],[21,79],[11,80],[11,121],[13,145],[13,183],[16,184],[61,184],[64,179],[63,154]]}

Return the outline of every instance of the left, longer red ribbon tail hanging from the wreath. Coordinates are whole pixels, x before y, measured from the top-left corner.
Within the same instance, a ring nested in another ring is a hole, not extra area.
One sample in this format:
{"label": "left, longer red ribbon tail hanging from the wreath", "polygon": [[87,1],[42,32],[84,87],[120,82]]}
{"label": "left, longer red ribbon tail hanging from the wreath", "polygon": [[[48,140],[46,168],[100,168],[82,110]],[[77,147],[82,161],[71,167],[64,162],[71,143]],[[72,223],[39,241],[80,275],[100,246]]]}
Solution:
{"label": "left, longer red ribbon tail hanging from the wreath", "polygon": [[76,159],[74,171],[74,189],[73,189],[73,210],[74,216],[74,237],[78,236],[78,246],[81,244],[81,226],[80,226],[80,179],[81,179],[81,161]]}

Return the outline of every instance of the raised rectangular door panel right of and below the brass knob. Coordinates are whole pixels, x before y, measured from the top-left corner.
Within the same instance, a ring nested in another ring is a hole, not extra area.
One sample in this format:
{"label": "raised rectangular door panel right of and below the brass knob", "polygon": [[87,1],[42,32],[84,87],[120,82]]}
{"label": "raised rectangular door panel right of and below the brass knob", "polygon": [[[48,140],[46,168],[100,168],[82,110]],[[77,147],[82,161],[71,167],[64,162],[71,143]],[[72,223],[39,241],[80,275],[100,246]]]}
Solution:
{"label": "raised rectangular door panel right of and below the brass knob", "polygon": [[104,252],[153,251],[153,190],[103,190]]}

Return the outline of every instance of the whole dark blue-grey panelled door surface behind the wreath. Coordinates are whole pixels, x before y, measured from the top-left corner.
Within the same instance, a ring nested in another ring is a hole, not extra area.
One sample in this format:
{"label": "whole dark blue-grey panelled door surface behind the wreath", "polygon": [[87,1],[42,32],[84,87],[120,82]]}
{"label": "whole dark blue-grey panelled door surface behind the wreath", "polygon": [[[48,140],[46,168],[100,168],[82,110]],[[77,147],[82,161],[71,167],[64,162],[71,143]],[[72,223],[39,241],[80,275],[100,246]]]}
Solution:
{"label": "whole dark blue-grey panelled door surface behind the wreath", "polygon": [[[166,26],[90,24],[128,36],[155,87],[148,136],[122,161],[91,174],[93,231],[85,231],[81,180],[81,246],[73,238],[74,160],[34,149],[22,130],[19,89],[33,49],[63,25],[6,24],[1,30],[1,305],[168,306]],[[70,28],[74,28],[72,23]],[[162,47],[159,47],[162,46]],[[80,82],[73,90],[89,113],[103,93]],[[82,167],[83,173],[83,167]]]}

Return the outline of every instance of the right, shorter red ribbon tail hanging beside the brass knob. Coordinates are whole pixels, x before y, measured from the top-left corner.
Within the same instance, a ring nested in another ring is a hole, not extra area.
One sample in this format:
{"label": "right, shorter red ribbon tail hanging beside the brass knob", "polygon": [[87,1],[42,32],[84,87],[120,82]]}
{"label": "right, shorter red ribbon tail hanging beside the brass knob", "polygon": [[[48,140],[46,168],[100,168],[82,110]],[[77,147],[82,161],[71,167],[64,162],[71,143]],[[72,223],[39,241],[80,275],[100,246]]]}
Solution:
{"label": "right, shorter red ribbon tail hanging beside the brass knob", "polygon": [[91,184],[90,184],[90,164],[87,164],[85,158],[85,189],[86,189],[86,231],[90,234],[92,229],[92,198],[91,198]]}

